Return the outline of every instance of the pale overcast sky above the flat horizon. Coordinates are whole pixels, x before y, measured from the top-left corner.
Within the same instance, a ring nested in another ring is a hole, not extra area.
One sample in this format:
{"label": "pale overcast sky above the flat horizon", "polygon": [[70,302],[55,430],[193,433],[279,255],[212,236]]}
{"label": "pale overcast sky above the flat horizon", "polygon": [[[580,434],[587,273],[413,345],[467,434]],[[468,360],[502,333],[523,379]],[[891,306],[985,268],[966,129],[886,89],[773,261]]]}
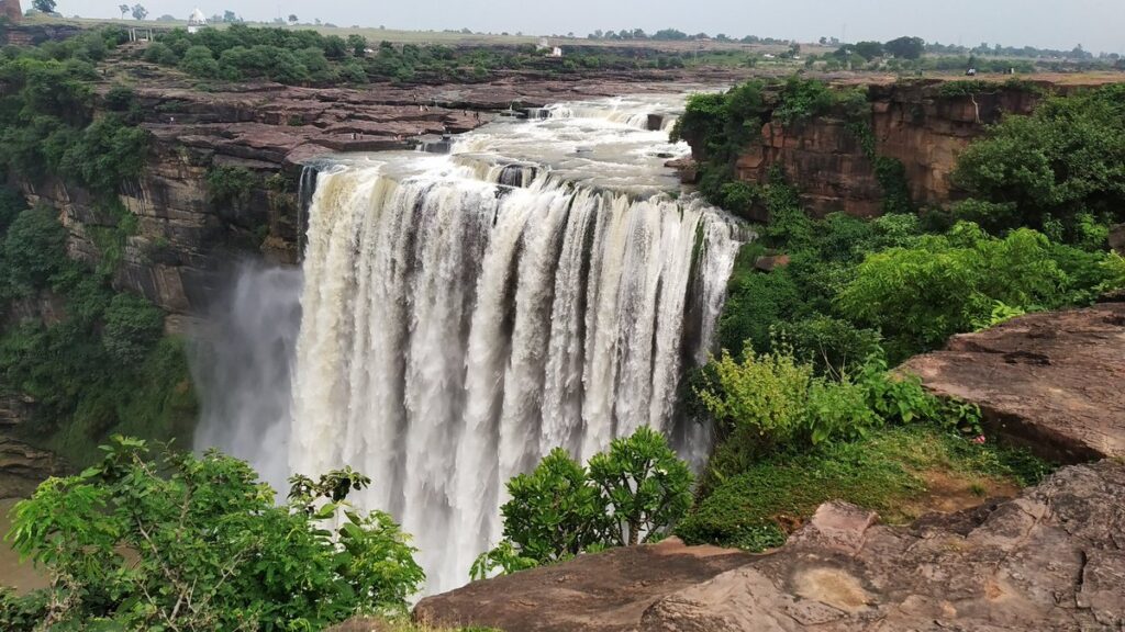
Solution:
{"label": "pale overcast sky above the flat horizon", "polygon": [[[126,0],[58,0],[58,11],[119,16]],[[133,4],[138,0],[127,0]],[[470,28],[549,35],[594,29],[678,28],[711,35],[816,40],[886,40],[916,35],[929,42],[1032,45],[1125,53],[1125,0],[140,0],[151,18],[186,18],[231,9],[246,19],[296,13],[339,26],[403,29]],[[24,0],[30,4],[30,0]]]}

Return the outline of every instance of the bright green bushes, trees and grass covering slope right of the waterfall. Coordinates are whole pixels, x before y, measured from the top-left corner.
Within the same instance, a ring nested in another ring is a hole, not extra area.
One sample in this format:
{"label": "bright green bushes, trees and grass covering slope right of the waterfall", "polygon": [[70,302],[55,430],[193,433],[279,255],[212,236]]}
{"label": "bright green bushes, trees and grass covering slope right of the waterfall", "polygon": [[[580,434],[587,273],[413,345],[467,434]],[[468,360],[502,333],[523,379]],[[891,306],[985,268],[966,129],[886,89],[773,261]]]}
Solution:
{"label": "bright green bushes, trees and grass covering slope right of the waterfall", "polygon": [[[989,89],[955,82],[938,98]],[[1122,89],[1047,96],[1034,115],[1005,118],[960,157],[955,178],[970,197],[921,209],[901,165],[878,155],[870,106],[854,90],[793,79],[693,97],[674,135],[702,150],[702,193],[765,222],[730,280],[719,323],[728,351],[690,380],[688,405],[714,419],[720,440],[677,533],[760,549],[830,497],[893,517],[928,468],[1019,484],[1045,471],[1026,453],[969,443],[981,432],[974,407],[938,401],[886,367],[952,334],[1125,287],[1125,260],[1107,246],[1109,226],[1125,219]],[[764,123],[824,115],[847,121],[883,171],[882,217],[810,217],[777,170],[760,186],[734,178]],[[770,253],[788,265],[757,270]],[[906,458],[915,441],[944,461]]]}

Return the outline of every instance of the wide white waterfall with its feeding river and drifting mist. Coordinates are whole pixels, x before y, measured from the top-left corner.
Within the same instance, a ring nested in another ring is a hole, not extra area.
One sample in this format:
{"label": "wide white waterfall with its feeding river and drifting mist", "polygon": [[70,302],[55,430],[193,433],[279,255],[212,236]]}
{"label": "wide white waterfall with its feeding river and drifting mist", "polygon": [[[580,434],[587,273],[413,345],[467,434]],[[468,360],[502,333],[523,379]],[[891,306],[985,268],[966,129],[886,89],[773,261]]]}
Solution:
{"label": "wide white waterfall with its feeding river and drifting mist", "polygon": [[428,593],[468,580],[504,481],[556,446],[585,460],[648,424],[702,459],[680,378],[710,350],[745,229],[664,166],[687,148],[649,127],[682,105],[562,103],[450,154],[321,165],[303,269],[244,267],[213,318],[198,446],[282,489],[371,476],[356,500],[414,534]]}

